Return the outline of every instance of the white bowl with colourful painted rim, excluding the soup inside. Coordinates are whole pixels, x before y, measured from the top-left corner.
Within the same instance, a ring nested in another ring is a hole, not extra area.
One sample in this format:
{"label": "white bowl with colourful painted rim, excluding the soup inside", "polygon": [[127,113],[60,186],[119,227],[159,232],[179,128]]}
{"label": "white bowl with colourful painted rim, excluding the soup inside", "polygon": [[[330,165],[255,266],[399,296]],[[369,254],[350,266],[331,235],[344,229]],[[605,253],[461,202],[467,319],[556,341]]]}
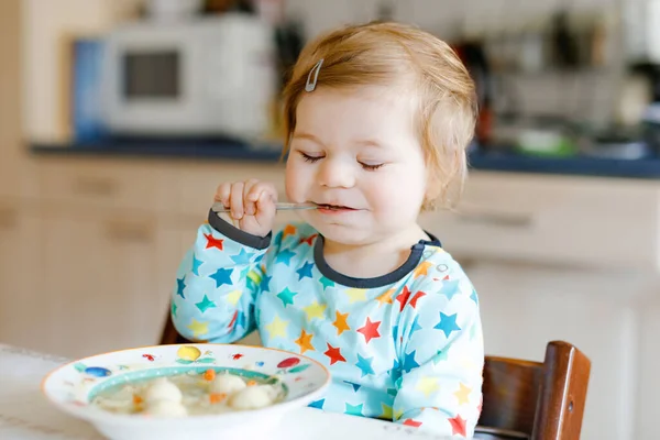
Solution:
{"label": "white bowl with colourful painted rim, excluding the soup inside", "polygon": [[[100,389],[129,380],[208,369],[231,369],[245,377],[276,376],[286,395],[261,409],[174,418],[119,415],[90,404]],[[317,400],[329,384],[330,372],[307,356],[261,346],[199,343],[145,346],[74,361],[46,375],[42,391],[59,409],[89,421],[112,440],[252,439],[273,437],[287,411]]]}

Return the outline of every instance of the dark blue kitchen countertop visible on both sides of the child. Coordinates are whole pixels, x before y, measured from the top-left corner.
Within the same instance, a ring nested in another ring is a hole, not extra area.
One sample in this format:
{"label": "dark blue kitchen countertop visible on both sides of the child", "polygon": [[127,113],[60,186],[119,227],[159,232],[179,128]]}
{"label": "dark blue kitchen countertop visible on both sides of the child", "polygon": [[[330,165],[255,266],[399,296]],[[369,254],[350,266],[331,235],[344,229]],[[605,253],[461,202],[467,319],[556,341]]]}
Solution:
{"label": "dark blue kitchen countertop visible on both sides of the child", "polygon": [[[30,151],[38,156],[99,156],[99,157],[160,157],[191,161],[244,161],[272,162],[279,161],[277,148],[250,148],[237,141],[218,140],[121,140],[90,144],[45,144],[33,143]],[[559,175],[602,176],[622,178],[660,178],[660,158],[639,160],[598,158],[574,156],[547,158],[526,156],[515,153],[493,152],[470,153],[472,169],[540,173]]]}

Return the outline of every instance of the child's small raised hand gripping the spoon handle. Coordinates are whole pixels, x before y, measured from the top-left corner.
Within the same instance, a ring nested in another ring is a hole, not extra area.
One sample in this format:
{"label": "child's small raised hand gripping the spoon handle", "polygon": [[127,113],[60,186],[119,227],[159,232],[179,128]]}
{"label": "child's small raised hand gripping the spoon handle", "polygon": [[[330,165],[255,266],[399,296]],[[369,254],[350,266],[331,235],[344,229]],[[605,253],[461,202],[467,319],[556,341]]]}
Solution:
{"label": "child's small raised hand gripping the spoon handle", "polygon": [[256,179],[227,182],[218,187],[216,201],[231,209],[229,217],[241,231],[266,237],[273,229],[277,202],[273,184]]}

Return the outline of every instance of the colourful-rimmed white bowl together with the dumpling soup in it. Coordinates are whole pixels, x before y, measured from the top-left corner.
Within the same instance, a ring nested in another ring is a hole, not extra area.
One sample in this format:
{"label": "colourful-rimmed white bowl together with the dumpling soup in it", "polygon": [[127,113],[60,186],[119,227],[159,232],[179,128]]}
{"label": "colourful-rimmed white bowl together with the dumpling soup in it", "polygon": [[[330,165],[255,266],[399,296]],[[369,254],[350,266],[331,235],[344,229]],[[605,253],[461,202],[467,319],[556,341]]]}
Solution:
{"label": "colourful-rimmed white bowl together with the dumpling soup in it", "polygon": [[42,391],[111,440],[248,439],[273,437],[329,384],[329,371],[300,354],[199,343],[80,359],[48,373]]}

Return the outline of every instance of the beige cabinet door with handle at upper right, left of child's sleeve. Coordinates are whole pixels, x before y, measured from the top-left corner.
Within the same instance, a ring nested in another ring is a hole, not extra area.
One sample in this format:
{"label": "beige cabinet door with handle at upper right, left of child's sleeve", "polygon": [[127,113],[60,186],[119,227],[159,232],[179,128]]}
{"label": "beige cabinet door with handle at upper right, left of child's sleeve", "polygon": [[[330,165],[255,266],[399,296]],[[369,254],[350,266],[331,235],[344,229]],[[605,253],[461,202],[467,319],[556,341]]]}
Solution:
{"label": "beige cabinet door with handle at upper right, left of child's sleeve", "polygon": [[43,232],[51,352],[77,358],[157,341],[167,294],[154,218],[53,210]]}

